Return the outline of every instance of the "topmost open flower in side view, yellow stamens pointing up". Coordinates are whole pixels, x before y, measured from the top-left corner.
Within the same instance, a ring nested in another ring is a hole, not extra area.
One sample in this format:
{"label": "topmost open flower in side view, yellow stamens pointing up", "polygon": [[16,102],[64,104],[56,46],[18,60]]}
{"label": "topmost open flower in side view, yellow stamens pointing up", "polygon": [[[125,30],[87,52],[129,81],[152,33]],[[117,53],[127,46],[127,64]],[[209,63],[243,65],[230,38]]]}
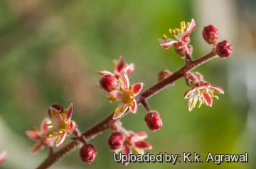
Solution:
{"label": "topmost open flower in side view, yellow stamens pointing up", "polygon": [[195,28],[196,23],[193,19],[191,20],[191,23],[188,22],[186,24],[182,21],[179,29],[169,29],[169,33],[175,37],[175,40],[167,37],[166,35],[163,35],[163,38],[159,39],[161,47],[169,49],[174,46],[175,48],[180,49],[181,47],[188,45],[190,42],[189,36]]}

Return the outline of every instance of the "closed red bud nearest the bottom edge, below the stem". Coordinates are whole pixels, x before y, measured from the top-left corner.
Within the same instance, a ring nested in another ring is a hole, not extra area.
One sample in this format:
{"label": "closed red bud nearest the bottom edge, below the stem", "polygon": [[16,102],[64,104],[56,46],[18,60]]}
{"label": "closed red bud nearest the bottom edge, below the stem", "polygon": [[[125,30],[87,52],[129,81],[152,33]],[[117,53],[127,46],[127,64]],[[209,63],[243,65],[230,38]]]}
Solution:
{"label": "closed red bud nearest the bottom edge, below the stem", "polygon": [[88,164],[92,163],[95,160],[97,152],[92,144],[85,144],[82,146],[79,152],[79,156],[81,161],[86,162]]}

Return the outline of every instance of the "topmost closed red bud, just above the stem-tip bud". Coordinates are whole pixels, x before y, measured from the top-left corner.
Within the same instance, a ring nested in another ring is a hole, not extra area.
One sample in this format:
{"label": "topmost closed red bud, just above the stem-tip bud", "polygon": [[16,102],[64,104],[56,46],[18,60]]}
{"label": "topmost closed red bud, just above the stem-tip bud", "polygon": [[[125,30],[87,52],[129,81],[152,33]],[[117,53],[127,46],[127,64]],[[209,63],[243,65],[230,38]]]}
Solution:
{"label": "topmost closed red bud, just above the stem-tip bud", "polygon": [[203,39],[206,40],[208,44],[216,44],[219,39],[218,30],[213,25],[208,25],[203,28]]}

